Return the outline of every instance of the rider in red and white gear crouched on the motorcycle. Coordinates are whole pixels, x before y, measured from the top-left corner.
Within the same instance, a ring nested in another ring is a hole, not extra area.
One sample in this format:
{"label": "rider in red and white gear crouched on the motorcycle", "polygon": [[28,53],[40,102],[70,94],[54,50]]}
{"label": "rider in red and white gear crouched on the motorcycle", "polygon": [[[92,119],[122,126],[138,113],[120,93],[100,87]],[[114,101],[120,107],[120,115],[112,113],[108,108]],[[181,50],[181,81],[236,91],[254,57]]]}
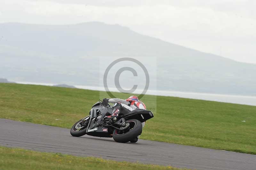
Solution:
{"label": "rider in red and white gear crouched on the motorcycle", "polygon": [[[130,96],[126,100],[120,99],[120,98],[110,98],[110,99],[104,98],[103,99],[103,104],[108,104],[108,103],[122,103],[122,104],[125,104],[124,107],[129,112],[133,111],[135,109],[146,109],[146,105],[143,102],[139,101],[139,98],[137,96]],[[108,116],[108,118],[116,120],[119,113],[120,113],[119,108],[114,108],[112,115]],[[145,126],[145,122],[142,122],[141,124],[142,124],[142,128],[143,128]],[[140,137],[140,135],[137,137],[137,140],[138,140],[139,137]]]}

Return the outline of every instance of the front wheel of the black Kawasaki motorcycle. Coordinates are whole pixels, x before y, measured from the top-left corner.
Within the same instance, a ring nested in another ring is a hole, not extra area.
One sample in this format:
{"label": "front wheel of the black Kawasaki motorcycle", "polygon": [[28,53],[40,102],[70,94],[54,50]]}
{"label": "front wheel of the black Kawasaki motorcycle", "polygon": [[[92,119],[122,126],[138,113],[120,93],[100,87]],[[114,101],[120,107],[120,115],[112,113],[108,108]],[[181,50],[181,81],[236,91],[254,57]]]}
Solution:
{"label": "front wheel of the black Kawasaki motorcycle", "polygon": [[[86,117],[87,118],[87,117]],[[85,118],[84,118],[85,119]],[[84,119],[81,119],[79,121],[77,121],[73,126],[72,128],[70,129],[70,134],[72,136],[75,136],[75,137],[80,137],[80,136],[83,136],[86,134],[86,129],[87,129],[87,126],[88,126],[88,123],[89,123],[89,120],[84,120]],[[83,122],[84,121],[84,122]],[[82,125],[81,122],[83,122],[84,124]]]}

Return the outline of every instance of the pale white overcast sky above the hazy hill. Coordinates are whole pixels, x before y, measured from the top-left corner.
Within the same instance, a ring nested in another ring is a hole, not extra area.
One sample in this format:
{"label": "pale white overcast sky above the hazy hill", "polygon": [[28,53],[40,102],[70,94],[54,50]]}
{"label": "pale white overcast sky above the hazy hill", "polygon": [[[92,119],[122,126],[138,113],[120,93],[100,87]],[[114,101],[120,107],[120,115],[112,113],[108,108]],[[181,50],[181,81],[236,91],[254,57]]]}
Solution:
{"label": "pale white overcast sky above the hazy hill", "polygon": [[256,63],[255,0],[0,0],[0,23],[100,21],[237,61]]}

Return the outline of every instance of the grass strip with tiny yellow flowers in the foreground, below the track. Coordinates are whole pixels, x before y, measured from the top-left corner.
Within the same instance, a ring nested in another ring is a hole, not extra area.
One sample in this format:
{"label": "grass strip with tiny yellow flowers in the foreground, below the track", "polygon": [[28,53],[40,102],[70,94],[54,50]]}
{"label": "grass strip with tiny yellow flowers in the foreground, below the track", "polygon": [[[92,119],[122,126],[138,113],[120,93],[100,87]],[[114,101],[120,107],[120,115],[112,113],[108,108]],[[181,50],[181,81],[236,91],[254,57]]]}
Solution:
{"label": "grass strip with tiny yellow flowers in the foreground, below the track", "polygon": [[76,157],[60,153],[46,153],[17,148],[0,147],[1,170],[181,170],[171,166],[146,165],[131,162],[109,161],[102,158]]}

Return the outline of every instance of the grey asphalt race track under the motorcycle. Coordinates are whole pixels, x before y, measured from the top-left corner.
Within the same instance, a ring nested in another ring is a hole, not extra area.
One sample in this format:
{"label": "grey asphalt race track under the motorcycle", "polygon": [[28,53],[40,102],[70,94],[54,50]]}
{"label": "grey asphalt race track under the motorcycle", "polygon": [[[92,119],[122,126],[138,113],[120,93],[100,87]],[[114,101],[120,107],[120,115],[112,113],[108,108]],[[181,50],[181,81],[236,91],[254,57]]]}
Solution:
{"label": "grey asphalt race track under the motorcycle", "polygon": [[256,155],[142,139],[138,143],[116,143],[112,138],[73,137],[66,128],[6,119],[0,119],[0,145],[180,168],[256,170]]}

